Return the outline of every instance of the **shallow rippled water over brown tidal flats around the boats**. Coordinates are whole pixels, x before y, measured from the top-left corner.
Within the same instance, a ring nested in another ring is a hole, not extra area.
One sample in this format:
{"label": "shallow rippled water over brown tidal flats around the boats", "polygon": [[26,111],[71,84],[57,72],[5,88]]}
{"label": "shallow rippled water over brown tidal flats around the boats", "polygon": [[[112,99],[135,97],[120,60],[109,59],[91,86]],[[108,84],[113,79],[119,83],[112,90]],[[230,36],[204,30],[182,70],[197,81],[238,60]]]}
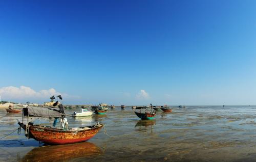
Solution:
{"label": "shallow rippled water over brown tidal flats around the boats", "polygon": [[[255,113],[252,105],[187,106],[143,121],[131,107],[116,107],[105,115],[68,117],[72,127],[105,123],[108,134],[101,129],[88,142],[44,146],[15,131],[0,140],[0,161],[253,161]],[[17,129],[16,119],[22,121],[20,113],[0,110],[0,138]]]}

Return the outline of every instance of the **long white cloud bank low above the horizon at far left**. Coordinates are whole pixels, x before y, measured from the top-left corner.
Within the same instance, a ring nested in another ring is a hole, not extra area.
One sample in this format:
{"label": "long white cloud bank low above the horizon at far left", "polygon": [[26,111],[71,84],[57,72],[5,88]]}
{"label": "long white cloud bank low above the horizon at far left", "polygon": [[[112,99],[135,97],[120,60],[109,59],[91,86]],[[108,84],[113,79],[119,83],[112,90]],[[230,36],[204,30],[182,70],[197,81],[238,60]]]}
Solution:
{"label": "long white cloud bank low above the horizon at far left", "polygon": [[20,86],[20,87],[2,87],[0,88],[0,95],[2,100],[42,100],[47,99],[48,101],[50,96],[61,95],[62,97],[68,98],[71,97],[67,93],[57,92],[55,89],[51,88],[49,90],[40,90],[36,92],[30,87]]}

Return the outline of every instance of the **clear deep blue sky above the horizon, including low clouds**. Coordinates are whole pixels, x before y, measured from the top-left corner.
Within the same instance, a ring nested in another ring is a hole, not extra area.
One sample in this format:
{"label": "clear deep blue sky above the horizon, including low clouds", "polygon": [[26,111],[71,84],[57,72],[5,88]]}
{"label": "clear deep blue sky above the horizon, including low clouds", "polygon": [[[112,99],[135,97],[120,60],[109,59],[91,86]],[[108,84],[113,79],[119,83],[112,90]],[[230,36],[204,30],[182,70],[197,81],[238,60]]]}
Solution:
{"label": "clear deep blue sky above the horizon, including low clouds", "polygon": [[0,95],[44,102],[60,93],[72,104],[256,104],[255,6],[0,1]]}

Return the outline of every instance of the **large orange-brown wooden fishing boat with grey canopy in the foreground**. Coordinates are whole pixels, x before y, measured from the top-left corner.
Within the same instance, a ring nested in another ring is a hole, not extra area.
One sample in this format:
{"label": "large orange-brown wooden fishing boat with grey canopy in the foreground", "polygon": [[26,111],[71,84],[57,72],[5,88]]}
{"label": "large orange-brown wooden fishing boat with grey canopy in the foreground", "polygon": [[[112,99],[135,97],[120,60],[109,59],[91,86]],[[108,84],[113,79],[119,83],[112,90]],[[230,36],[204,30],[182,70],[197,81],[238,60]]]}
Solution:
{"label": "large orange-brown wooden fishing boat with grey canopy in the foreground", "polygon": [[[53,97],[51,97],[51,99],[54,99]],[[62,99],[60,95],[57,97]],[[28,123],[25,124],[18,121],[18,124],[25,130],[26,137],[53,145],[71,144],[91,139],[104,126],[104,124],[97,123],[92,126],[70,128],[68,120],[65,117],[65,112],[62,104],[56,101],[53,105],[58,105],[59,110],[32,106],[24,108],[23,117],[28,116]],[[31,116],[48,119],[54,118],[54,127],[40,124],[36,125],[32,122],[29,122]],[[58,119],[60,119],[60,127],[55,127]]]}

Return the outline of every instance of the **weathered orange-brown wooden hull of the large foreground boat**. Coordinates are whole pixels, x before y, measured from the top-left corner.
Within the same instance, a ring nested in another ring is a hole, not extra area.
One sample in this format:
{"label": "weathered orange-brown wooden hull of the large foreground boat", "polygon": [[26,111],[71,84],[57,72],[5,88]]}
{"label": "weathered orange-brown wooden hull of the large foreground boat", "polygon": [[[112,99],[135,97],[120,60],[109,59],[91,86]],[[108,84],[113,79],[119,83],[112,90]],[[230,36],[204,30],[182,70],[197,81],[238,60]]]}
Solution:
{"label": "weathered orange-brown wooden hull of the large foreground boat", "polygon": [[59,128],[51,128],[40,125],[26,125],[18,122],[18,124],[24,129],[28,129],[29,137],[53,145],[63,145],[83,142],[91,139],[97,134],[97,132],[104,126],[104,124],[97,124],[93,126],[80,127],[79,130],[62,130]]}

